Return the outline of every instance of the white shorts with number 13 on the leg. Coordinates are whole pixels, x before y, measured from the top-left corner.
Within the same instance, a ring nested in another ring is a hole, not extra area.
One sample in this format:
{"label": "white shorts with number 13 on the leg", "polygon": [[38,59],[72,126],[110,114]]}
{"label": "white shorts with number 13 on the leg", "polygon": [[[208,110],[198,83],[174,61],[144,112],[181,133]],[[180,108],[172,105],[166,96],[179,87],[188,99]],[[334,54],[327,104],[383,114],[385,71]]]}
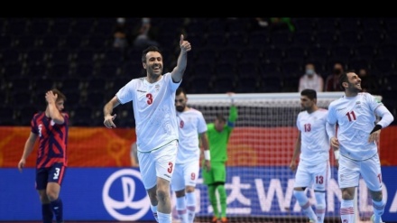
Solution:
{"label": "white shorts with number 13 on the leg", "polygon": [[331,179],[329,161],[317,165],[299,163],[295,173],[294,188],[312,188],[316,191],[326,191]]}

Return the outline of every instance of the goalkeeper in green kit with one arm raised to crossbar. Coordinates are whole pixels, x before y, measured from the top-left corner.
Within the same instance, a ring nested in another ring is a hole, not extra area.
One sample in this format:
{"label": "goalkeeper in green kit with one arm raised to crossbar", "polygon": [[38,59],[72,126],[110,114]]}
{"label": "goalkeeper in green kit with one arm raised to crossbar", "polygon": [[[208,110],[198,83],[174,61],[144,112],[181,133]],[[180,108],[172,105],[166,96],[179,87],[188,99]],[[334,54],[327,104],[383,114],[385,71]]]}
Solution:
{"label": "goalkeeper in green kit with one arm raised to crossbar", "polygon": [[[231,95],[229,93],[229,95]],[[226,161],[227,161],[227,143],[230,135],[235,127],[235,120],[237,119],[237,107],[235,107],[232,98],[232,105],[229,110],[229,117],[217,115],[214,123],[207,125],[207,135],[209,143],[210,163],[211,169],[208,170],[203,165],[202,177],[204,184],[208,186],[208,197],[212,208],[214,209],[214,217],[211,223],[217,223],[220,218],[222,223],[227,222],[226,218]],[[216,191],[219,194],[219,201],[217,200]],[[217,209],[217,204],[220,202],[220,213]]]}

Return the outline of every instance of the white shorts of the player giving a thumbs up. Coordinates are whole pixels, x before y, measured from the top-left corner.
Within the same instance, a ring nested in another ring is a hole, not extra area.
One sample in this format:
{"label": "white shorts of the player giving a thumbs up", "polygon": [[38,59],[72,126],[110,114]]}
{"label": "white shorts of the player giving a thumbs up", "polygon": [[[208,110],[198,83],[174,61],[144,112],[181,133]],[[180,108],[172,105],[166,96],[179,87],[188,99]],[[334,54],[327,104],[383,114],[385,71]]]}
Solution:
{"label": "white shorts of the player giving a thumbs up", "polygon": [[174,140],[161,148],[148,153],[138,150],[139,170],[146,190],[157,184],[157,177],[171,181],[178,152],[178,141]]}

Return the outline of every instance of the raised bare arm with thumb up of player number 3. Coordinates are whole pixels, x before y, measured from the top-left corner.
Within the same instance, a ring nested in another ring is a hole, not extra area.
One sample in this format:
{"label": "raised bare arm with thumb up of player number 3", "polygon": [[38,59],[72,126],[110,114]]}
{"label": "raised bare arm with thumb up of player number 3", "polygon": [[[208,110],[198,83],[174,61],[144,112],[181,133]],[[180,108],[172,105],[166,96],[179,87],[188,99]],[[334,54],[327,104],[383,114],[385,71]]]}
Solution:
{"label": "raised bare arm with thumb up of player number 3", "polygon": [[177,66],[172,70],[172,80],[180,82],[188,64],[188,51],[191,51],[190,42],[185,41],[183,34],[180,35],[180,55],[178,56]]}

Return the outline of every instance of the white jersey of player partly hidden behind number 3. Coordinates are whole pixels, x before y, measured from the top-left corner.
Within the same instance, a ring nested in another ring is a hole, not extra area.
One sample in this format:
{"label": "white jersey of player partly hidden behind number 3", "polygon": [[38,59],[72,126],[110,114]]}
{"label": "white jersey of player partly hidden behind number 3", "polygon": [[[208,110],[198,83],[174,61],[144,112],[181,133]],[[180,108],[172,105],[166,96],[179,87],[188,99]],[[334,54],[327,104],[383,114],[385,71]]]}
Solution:
{"label": "white jersey of player partly hidden behind number 3", "polygon": [[207,123],[203,114],[194,108],[178,112],[180,144],[176,163],[189,163],[199,160],[199,134],[207,132]]}

